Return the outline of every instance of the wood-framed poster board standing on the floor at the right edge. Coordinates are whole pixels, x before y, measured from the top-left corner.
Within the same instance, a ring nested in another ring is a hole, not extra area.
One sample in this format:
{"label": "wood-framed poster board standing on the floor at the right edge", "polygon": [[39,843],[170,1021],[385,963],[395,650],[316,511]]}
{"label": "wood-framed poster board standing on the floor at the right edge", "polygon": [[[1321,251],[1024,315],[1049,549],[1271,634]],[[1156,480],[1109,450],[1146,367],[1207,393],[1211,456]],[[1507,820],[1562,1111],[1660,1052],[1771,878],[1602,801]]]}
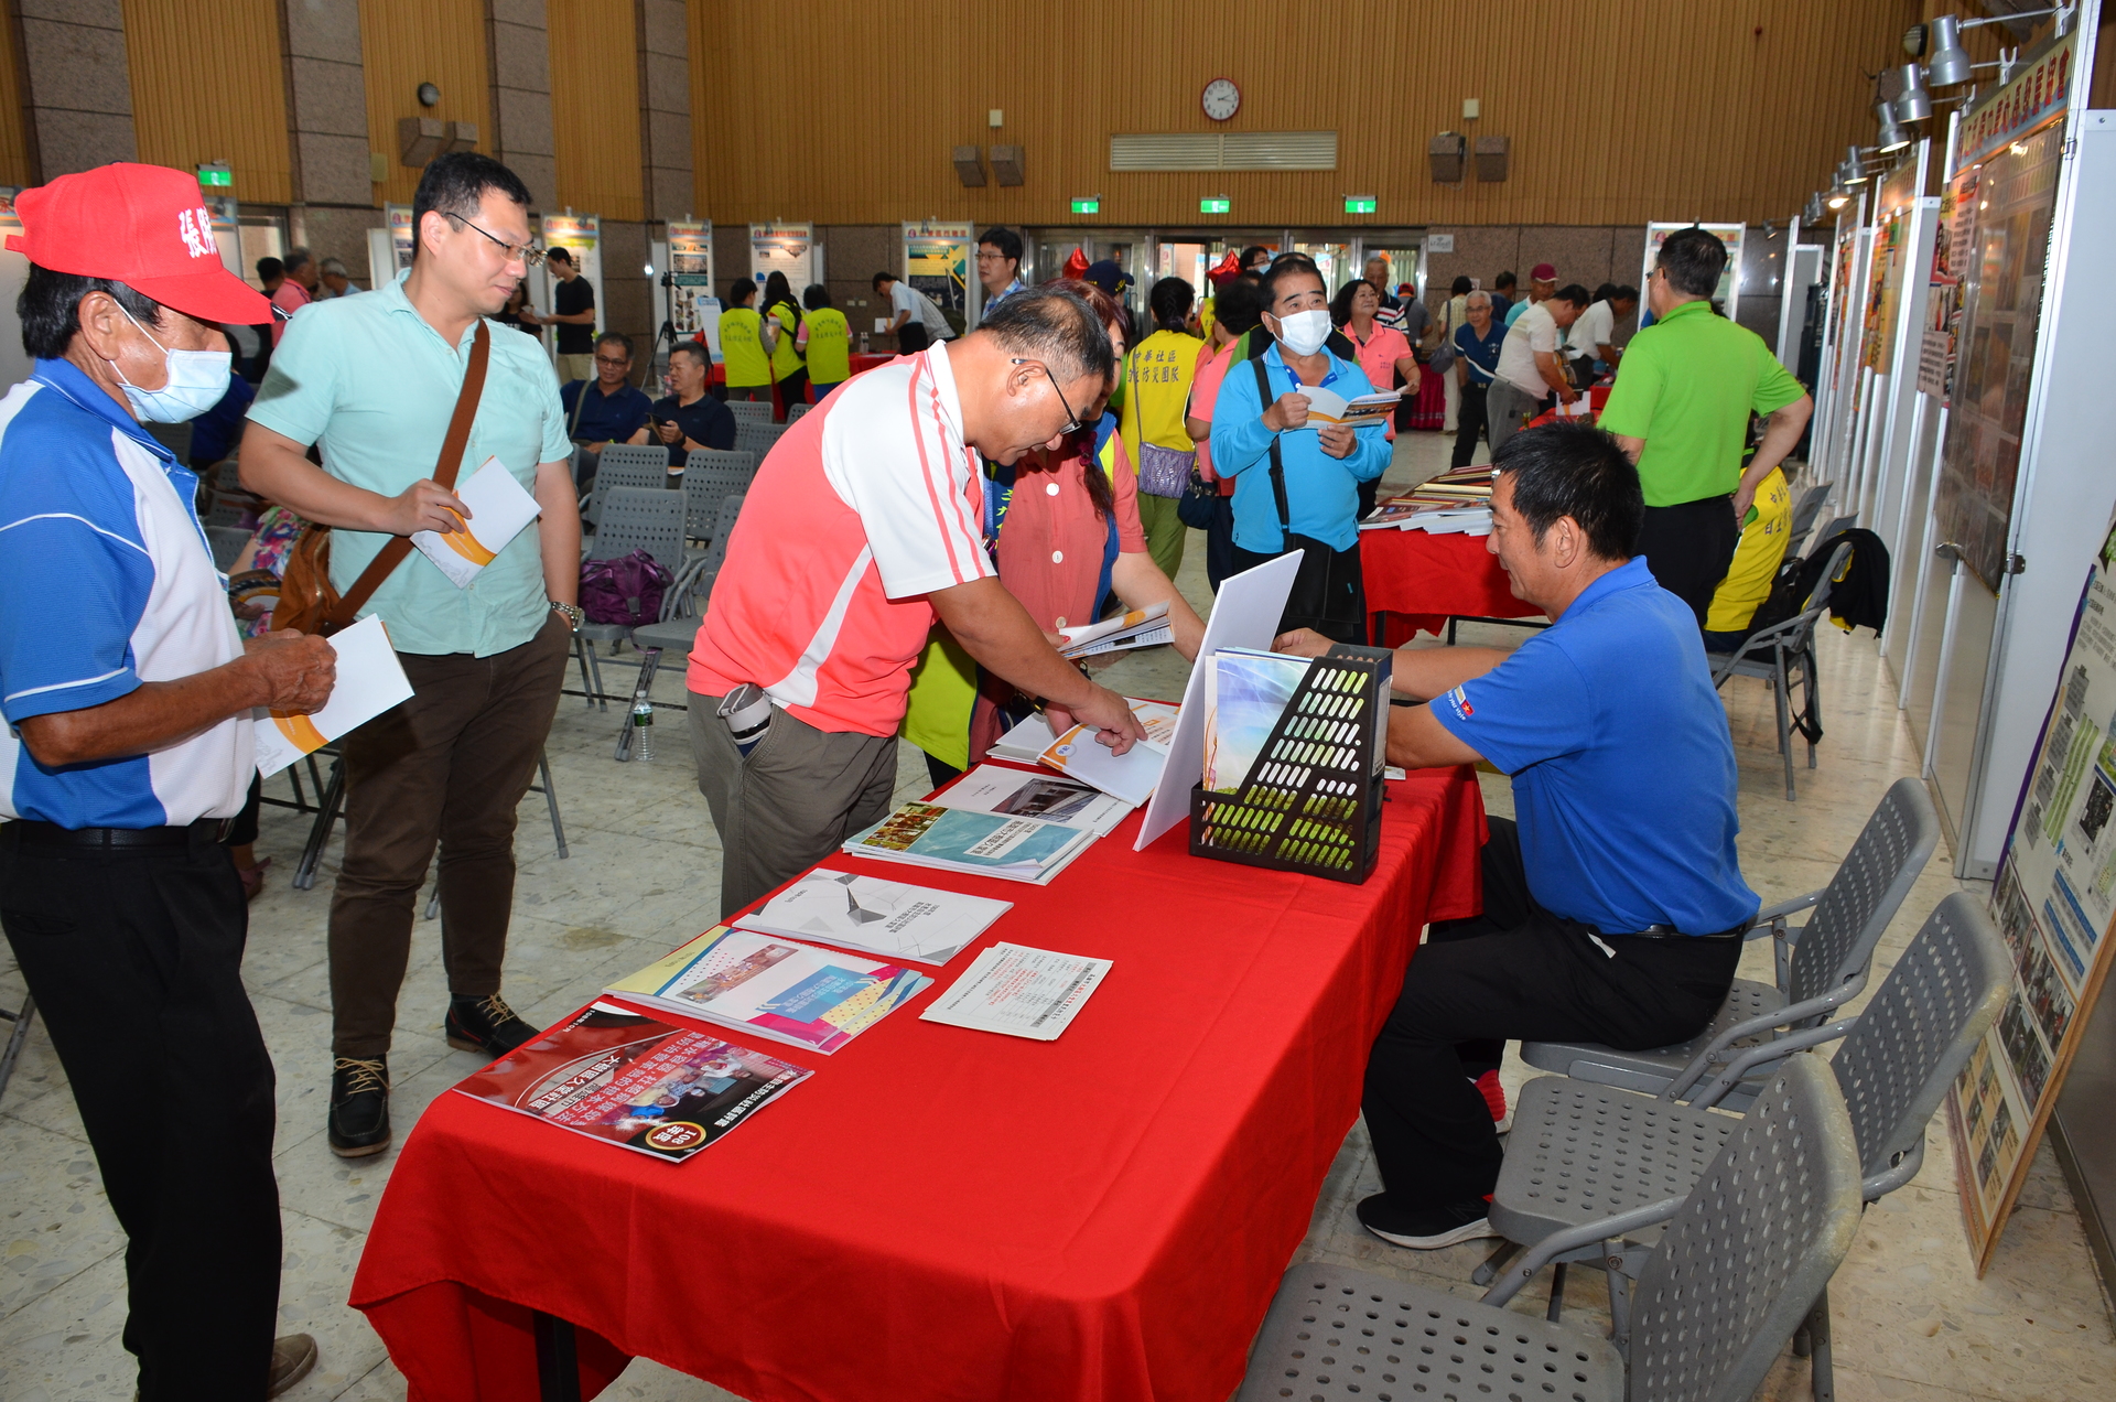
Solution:
{"label": "wood-framed poster board standing on the floor at the right edge", "polygon": [[2012,811],[1991,915],[2012,997],[1947,1093],[1976,1273],[2006,1228],[2110,972],[2116,925],[2116,521],[2072,616],[2042,743]]}

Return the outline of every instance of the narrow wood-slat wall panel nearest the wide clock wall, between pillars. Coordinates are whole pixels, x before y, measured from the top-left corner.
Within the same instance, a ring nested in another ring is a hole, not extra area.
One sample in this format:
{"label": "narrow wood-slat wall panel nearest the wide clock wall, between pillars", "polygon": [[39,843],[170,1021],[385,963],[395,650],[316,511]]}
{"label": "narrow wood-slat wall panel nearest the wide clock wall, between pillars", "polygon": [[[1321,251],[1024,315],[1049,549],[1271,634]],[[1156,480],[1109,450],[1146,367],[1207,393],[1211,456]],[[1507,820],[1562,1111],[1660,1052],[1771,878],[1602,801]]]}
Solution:
{"label": "narrow wood-slat wall panel nearest the wide clock wall, between pillars", "polygon": [[559,203],[603,218],[647,216],[639,144],[633,0],[550,0],[550,123]]}

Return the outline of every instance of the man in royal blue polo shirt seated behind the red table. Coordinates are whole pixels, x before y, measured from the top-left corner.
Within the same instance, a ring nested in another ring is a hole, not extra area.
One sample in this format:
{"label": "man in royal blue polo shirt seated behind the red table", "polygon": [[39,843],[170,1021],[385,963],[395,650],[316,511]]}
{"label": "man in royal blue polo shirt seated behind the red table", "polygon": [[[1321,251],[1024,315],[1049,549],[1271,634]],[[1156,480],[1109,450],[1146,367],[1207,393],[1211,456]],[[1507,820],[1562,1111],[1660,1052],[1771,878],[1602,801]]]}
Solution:
{"label": "man in royal blue polo shirt seated behind the red table", "polygon": [[[1598,428],[1549,426],[1496,457],[1490,549],[1551,627],[1513,652],[1403,648],[1388,762],[1490,760],[1515,820],[1490,820],[1483,915],[1430,928],[1367,1061],[1386,1192],[1375,1237],[1490,1237],[1507,1038],[1667,1046],[1727,1000],[1756,894],[1735,856],[1727,712],[1689,606],[1631,555],[1638,468]],[[1295,633],[1280,650],[1316,654]]]}

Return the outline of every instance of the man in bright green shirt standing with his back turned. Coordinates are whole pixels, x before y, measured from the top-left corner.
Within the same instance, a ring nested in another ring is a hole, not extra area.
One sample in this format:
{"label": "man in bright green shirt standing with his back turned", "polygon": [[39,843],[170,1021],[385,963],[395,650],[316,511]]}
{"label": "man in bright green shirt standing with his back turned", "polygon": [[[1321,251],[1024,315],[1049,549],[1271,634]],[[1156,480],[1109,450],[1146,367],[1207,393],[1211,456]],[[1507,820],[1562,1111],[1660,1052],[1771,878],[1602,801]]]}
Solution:
{"label": "man in bright green shirt standing with his back turned", "polygon": [[[1631,337],[1602,409],[1602,428],[1638,464],[1646,523],[1638,553],[1661,589],[1703,627],[1712,591],[1727,576],[1756,483],[1807,428],[1816,402],[1754,330],[1712,309],[1727,246],[1691,227],[1661,244],[1646,305],[1657,318]],[[1748,468],[1748,415],[1767,415]]]}

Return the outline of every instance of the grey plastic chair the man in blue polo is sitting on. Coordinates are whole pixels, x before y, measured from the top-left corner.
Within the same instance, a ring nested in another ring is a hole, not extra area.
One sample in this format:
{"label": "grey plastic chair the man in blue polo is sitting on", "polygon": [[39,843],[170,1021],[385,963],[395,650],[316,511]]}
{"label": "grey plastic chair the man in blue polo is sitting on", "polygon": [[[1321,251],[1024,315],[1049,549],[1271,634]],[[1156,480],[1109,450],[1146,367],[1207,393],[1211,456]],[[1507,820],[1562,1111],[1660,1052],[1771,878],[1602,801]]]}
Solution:
{"label": "grey plastic chair the man in blue polo is sitting on", "polygon": [[[1826,887],[1758,911],[1750,923],[1746,938],[1771,936],[1775,945],[1775,983],[1735,978],[1712,1023],[1676,1046],[1634,1053],[1595,1042],[1521,1042],[1521,1059],[1574,1080],[1682,1095],[1777,1029],[1813,1027],[1866,987],[1875,945],[1938,841],[1940,815],[1926,786],[1896,779]],[[1807,923],[1790,928],[1788,919],[1809,906]],[[1739,1108],[1754,1091],[1754,1082],[1733,1086],[1725,1099]]]}

